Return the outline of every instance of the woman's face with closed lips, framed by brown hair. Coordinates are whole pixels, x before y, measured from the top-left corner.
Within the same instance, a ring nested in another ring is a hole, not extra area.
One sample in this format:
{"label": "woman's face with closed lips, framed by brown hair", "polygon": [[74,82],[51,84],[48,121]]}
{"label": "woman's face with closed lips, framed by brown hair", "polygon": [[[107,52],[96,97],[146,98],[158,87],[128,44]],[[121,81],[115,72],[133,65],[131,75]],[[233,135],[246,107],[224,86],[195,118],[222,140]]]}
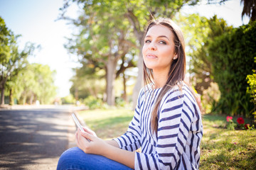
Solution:
{"label": "woman's face with closed lips, framed by brown hair", "polygon": [[153,72],[169,72],[171,61],[177,55],[174,34],[166,26],[156,25],[149,28],[144,39],[142,55],[146,67]]}

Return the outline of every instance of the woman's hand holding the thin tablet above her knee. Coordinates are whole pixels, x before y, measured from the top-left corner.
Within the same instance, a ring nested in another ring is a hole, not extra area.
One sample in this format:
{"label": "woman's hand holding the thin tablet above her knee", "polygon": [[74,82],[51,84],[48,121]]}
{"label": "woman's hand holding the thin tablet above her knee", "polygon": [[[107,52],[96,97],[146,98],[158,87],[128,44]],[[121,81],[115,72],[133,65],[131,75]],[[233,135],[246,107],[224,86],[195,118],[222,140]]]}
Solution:
{"label": "woman's hand holding the thin tablet above her knee", "polygon": [[[90,140],[90,142],[88,140]],[[93,133],[90,134],[87,130],[81,132],[79,129],[75,132],[75,142],[78,147],[87,154],[104,155],[109,146],[107,142],[101,140],[96,135],[93,135]]]}

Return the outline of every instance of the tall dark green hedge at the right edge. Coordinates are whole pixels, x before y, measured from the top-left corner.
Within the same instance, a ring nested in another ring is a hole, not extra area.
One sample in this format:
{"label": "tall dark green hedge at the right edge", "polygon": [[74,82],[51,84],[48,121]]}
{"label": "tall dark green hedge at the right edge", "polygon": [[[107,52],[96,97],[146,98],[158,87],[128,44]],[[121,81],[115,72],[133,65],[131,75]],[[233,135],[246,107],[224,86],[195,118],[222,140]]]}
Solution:
{"label": "tall dark green hedge at the right edge", "polygon": [[252,116],[246,77],[256,68],[256,22],[234,28],[210,42],[209,57],[221,98],[218,111],[228,115]]}

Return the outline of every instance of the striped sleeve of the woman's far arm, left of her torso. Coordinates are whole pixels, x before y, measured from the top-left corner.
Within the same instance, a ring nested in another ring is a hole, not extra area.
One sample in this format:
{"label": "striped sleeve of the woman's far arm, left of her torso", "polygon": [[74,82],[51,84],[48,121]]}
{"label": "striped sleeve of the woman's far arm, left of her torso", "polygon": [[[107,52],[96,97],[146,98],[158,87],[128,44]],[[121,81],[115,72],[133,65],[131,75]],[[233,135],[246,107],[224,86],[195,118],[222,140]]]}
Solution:
{"label": "striped sleeve of the woman's far arm, left of her torso", "polygon": [[128,151],[135,151],[141,147],[141,128],[140,128],[140,118],[139,118],[139,110],[141,106],[141,97],[143,96],[143,91],[141,90],[139,93],[139,98],[137,101],[137,107],[134,111],[134,117],[132,121],[129,123],[129,127],[127,132],[124,135],[117,137],[114,139],[121,149],[126,149]]}

